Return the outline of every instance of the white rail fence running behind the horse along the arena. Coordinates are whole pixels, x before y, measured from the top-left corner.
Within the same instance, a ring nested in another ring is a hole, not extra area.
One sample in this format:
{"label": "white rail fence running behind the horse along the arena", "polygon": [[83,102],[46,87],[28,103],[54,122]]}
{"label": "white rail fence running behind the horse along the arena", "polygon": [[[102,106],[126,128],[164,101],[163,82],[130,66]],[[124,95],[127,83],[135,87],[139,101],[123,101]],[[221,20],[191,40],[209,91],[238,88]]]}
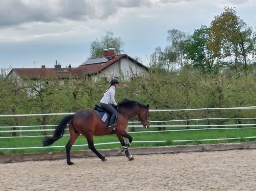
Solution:
{"label": "white rail fence running behind the horse along the arena", "polygon": [[[256,109],[256,106],[250,107],[228,107],[228,108],[200,108],[200,109],[150,109],[150,112],[169,112],[169,111],[195,111],[195,110],[216,110],[216,109]],[[0,117],[11,117],[11,116],[49,116],[49,115],[70,115],[74,113],[48,113],[48,114],[19,114],[19,115],[0,115]],[[240,126],[242,129],[255,129],[256,124],[211,124],[211,125],[154,125],[156,122],[184,122],[184,121],[203,121],[203,120],[254,120],[256,118],[198,118],[198,119],[186,119],[186,120],[160,120],[160,121],[150,121],[150,127],[199,127],[196,129],[172,129],[172,130],[155,130],[155,131],[135,131],[129,133],[158,133],[158,132],[171,132],[171,131],[198,131],[198,130],[220,130],[220,128],[209,128],[209,127],[223,127],[221,129],[241,129],[237,126]],[[128,127],[143,127],[142,125],[130,125],[132,123],[140,123],[140,122],[128,122]],[[0,140],[3,138],[30,138],[30,137],[41,137],[43,135],[30,135],[30,136],[22,136],[22,132],[42,132],[42,131],[54,131],[55,129],[23,129],[25,127],[55,127],[55,125],[46,125],[46,126],[0,126],[0,133],[10,133],[10,132],[19,132],[19,136],[0,136]],[[235,127],[234,127],[235,126]],[[253,127],[255,126],[255,127]],[[1,130],[2,128],[19,128],[19,130]],[[200,128],[204,127],[204,128]],[[206,127],[206,128],[205,128]],[[69,134],[65,134],[64,136],[69,136]],[[243,138],[256,138],[256,136],[247,136]],[[191,141],[211,141],[211,140],[233,140],[233,139],[241,139],[241,137],[233,137],[233,138],[211,138],[211,139],[191,139],[191,140],[172,140],[172,142],[191,142]],[[166,140],[158,140],[158,141],[133,141],[133,143],[148,143],[148,142],[166,142]],[[103,144],[117,144],[120,142],[109,142],[109,143],[98,143],[95,145],[103,145]],[[73,145],[73,146],[87,146],[87,144],[83,145]],[[65,146],[49,146],[49,147],[65,147]],[[49,148],[49,147],[15,147],[15,148],[0,148],[0,150],[9,150],[9,149],[40,149],[40,148]]]}

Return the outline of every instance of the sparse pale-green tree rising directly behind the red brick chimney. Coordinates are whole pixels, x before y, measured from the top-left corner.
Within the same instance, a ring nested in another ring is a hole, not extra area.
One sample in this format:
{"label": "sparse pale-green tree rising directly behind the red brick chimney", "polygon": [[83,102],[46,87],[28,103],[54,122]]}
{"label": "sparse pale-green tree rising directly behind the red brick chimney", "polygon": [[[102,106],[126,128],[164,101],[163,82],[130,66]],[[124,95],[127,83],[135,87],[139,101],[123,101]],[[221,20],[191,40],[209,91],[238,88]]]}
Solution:
{"label": "sparse pale-green tree rising directly behind the red brick chimney", "polygon": [[123,52],[124,42],[120,37],[114,37],[114,33],[109,30],[104,36],[100,36],[100,40],[96,38],[90,42],[90,58],[102,57],[102,49],[115,48],[115,53],[120,54]]}

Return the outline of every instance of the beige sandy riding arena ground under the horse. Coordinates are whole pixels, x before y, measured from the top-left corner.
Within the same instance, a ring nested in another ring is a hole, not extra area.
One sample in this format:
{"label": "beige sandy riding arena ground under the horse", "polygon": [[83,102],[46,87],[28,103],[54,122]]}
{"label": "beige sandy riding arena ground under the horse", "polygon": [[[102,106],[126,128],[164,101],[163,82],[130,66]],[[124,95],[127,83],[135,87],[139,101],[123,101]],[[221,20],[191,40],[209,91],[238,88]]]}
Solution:
{"label": "beige sandy riding arena ground under the horse", "polygon": [[0,164],[0,190],[255,191],[256,149]]}

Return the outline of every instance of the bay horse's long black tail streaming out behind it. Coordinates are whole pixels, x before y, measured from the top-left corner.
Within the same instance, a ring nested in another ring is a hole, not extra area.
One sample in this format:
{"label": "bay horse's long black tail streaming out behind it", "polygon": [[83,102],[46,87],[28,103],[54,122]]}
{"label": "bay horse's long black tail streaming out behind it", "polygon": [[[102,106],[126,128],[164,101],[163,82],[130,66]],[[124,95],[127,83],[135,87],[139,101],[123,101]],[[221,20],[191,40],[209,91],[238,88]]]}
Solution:
{"label": "bay horse's long black tail streaming out behind it", "polygon": [[51,144],[53,144],[56,140],[60,139],[64,133],[65,133],[65,128],[67,127],[67,123],[74,118],[74,114],[73,115],[68,115],[65,116],[58,124],[58,126],[56,127],[53,136],[47,136],[44,138],[43,140],[43,146],[49,146]]}

